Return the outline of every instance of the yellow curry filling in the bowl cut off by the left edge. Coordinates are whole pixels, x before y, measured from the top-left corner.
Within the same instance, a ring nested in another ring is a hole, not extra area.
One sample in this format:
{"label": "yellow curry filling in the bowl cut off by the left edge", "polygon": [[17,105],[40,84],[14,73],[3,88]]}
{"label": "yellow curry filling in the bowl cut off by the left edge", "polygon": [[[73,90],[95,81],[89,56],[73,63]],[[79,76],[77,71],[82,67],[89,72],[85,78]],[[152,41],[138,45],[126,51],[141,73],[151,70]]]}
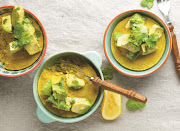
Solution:
{"label": "yellow curry filling in the bowl cut off by the left edge", "polygon": [[[2,17],[10,15],[11,12],[0,15],[0,61],[4,63],[4,68],[8,70],[21,70],[32,65],[41,55],[41,52],[38,52],[34,55],[29,55],[28,52],[24,49],[10,54],[9,43],[14,41],[12,33],[7,33],[2,29]],[[26,16],[28,17],[28,16]],[[33,23],[35,29],[38,29],[41,33],[41,36],[38,38],[38,44],[40,48],[43,48],[43,33],[36,21],[31,17],[28,17]]]}

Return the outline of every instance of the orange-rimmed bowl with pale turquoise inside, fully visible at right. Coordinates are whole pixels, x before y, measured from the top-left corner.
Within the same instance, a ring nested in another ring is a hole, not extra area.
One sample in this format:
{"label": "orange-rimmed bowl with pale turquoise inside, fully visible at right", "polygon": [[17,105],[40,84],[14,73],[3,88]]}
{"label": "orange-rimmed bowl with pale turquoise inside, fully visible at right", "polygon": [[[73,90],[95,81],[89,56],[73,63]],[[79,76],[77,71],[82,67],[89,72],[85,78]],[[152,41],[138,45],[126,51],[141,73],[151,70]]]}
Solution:
{"label": "orange-rimmed bowl with pale turquoise inside, fully visible at right", "polygon": [[[112,32],[114,30],[114,28],[117,26],[117,24],[122,21],[123,19],[132,16],[135,13],[139,13],[142,14],[144,16],[150,17],[153,20],[155,20],[158,24],[161,25],[161,27],[164,28],[164,33],[165,33],[165,37],[166,37],[166,47],[165,47],[165,51],[161,57],[161,59],[158,61],[157,64],[155,64],[153,67],[147,69],[147,70],[143,70],[143,71],[135,71],[135,70],[130,70],[125,68],[124,66],[122,66],[121,64],[118,63],[118,61],[116,61],[115,57],[113,56],[113,53],[111,51],[111,35]],[[166,62],[170,52],[171,52],[171,46],[172,46],[172,39],[171,39],[171,34],[170,31],[167,27],[167,25],[155,14],[146,11],[146,10],[140,10],[140,9],[136,9],[136,10],[129,10],[126,12],[123,12],[119,15],[117,15],[108,25],[105,34],[104,34],[104,52],[106,55],[106,58],[108,59],[108,61],[110,62],[110,64],[120,73],[127,75],[127,76],[131,76],[131,77],[144,77],[144,76],[148,76],[154,72],[156,72],[158,69],[160,69],[164,63]]]}

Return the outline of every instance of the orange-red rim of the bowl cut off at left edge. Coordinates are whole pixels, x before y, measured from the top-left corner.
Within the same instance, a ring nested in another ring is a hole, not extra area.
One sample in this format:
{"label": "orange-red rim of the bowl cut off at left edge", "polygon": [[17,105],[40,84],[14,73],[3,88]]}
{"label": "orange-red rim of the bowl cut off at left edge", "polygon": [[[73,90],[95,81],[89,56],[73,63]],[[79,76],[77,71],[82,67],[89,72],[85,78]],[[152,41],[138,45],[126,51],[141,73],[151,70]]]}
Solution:
{"label": "orange-red rim of the bowl cut off at left edge", "polygon": [[[14,5],[7,5],[7,6],[1,6],[0,9],[3,9],[3,8],[11,8],[11,7],[14,7]],[[38,22],[39,22],[39,25],[42,27],[42,30],[43,30],[43,33],[44,33],[44,38],[45,38],[45,45],[44,45],[44,52],[39,60],[39,62],[34,65],[30,70],[24,72],[24,73],[21,73],[21,74],[14,74],[14,75],[5,75],[5,74],[0,74],[0,76],[5,76],[5,77],[18,77],[18,76],[22,76],[22,75],[25,75],[31,71],[33,71],[36,67],[38,67],[38,65],[42,62],[45,54],[46,54],[46,50],[47,50],[47,35],[46,35],[46,31],[45,31],[45,28],[44,26],[42,25],[41,21],[32,13],[30,12],[29,10],[23,8],[24,11],[28,12],[29,14],[31,14]],[[28,66],[29,67],[29,66]]]}

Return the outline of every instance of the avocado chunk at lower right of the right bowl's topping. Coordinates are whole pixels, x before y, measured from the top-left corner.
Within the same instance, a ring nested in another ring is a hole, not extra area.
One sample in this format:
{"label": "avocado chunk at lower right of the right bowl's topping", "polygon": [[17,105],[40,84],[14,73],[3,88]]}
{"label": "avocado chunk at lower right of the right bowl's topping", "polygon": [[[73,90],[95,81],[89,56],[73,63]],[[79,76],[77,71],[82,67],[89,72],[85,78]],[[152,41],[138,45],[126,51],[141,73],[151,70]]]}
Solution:
{"label": "avocado chunk at lower right of the right bowl's topping", "polygon": [[146,43],[141,45],[142,55],[148,55],[158,50],[158,47],[149,48]]}

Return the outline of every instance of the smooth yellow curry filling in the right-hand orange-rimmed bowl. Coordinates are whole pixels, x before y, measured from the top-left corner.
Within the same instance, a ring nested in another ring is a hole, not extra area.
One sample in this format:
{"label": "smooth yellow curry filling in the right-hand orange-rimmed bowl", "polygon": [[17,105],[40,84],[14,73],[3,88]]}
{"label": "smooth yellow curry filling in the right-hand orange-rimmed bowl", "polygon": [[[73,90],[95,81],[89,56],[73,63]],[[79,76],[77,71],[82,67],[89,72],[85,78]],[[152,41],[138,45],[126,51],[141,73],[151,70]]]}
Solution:
{"label": "smooth yellow curry filling in the right-hand orange-rimmed bowl", "polygon": [[[156,21],[153,19],[144,16],[146,19],[145,26],[150,29],[154,24],[159,25]],[[165,50],[165,34],[163,32],[162,37],[157,42],[158,50],[152,54],[145,55],[145,56],[139,56],[136,60],[129,60],[126,56],[123,54],[126,54],[127,50],[123,48],[118,48],[115,45],[115,41],[113,39],[113,34],[115,32],[121,32],[123,34],[131,34],[131,30],[128,28],[125,28],[126,24],[128,23],[129,19],[131,17],[128,17],[124,20],[122,20],[114,29],[112,36],[111,36],[111,50],[115,57],[115,59],[124,67],[131,69],[131,70],[146,70],[148,68],[151,68],[155,64],[158,63],[158,61],[161,59],[164,50]]]}

